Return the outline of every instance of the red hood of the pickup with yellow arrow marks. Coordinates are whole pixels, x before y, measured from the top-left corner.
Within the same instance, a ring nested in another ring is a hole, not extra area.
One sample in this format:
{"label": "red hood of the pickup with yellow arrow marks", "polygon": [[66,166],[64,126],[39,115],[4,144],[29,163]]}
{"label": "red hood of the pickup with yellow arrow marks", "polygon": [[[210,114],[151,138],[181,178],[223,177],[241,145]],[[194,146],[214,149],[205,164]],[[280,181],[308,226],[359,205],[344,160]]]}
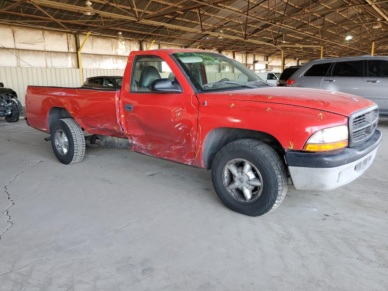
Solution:
{"label": "red hood of the pickup with yellow arrow marks", "polygon": [[351,94],[297,87],[265,87],[206,92],[198,93],[197,97],[201,99],[230,99],[288,104],[328,111],[344,116],[349,116],[357,110],[375,104],[370,100]]}

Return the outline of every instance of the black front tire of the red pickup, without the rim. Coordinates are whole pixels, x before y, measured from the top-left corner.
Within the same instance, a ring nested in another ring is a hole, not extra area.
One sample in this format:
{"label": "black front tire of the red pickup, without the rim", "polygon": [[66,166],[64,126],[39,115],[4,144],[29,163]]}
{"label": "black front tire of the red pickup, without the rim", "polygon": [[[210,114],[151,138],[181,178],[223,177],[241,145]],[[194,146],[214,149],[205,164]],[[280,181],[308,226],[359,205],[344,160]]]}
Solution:
{"label": "black front tire of the red pickup, without the rim", "polygon": [[[256,200],[245,203],[238,201],[224,185],[224,167],[233,159],[245,159],[260,172],[262,189]],[[221,201],[231,210],[249,216],[273,211],[282,203],[288,190],[288,173],[284,161],[272,147],[253,139],[236,140],[222,147],[213,160],[211,178]]]}

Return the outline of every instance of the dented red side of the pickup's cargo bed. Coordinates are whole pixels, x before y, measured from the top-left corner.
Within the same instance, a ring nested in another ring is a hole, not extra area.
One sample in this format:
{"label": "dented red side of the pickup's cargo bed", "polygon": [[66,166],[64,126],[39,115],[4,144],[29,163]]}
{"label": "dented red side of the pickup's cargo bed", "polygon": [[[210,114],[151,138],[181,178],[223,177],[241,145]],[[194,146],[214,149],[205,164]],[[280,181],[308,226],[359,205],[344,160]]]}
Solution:
{"label": "dented red side of the pickup's cargo bed", "polygon": [[27,121],[33,128],[50,133],[50,113],[66,109],[89,133],[125,137],[116,110],[119,97],[120,90],[28,86]]}

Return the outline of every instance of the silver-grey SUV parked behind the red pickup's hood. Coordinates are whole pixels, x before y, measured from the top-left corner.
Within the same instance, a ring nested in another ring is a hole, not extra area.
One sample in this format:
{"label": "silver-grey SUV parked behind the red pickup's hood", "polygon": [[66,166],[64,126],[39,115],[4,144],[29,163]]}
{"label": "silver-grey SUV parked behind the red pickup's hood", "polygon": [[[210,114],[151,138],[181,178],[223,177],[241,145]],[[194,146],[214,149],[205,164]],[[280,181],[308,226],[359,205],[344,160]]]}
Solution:
{"label": "silver-grey SUV parked behind the red pickup's hood", "polygon": [[379,106],[380,116],[388,117],[388,57],[365,55],[307,62],[289,77],[287,86],[364,97]]}

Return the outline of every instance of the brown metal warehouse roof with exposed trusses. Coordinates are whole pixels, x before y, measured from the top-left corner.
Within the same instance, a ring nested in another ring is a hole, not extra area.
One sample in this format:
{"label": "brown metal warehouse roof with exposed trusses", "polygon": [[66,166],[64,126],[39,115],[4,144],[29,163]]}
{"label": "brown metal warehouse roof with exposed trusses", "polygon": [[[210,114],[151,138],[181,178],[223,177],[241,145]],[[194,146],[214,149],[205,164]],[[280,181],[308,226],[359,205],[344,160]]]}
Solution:
{"label": "brown metal warehouse roof with exposed trusses", "polygon": [[388,0],[90,2],[2,0],[0,23],[287,57],[319,57],[320,46],[329,57],[365,55],[372,42],[386,54],[388,45]]}

